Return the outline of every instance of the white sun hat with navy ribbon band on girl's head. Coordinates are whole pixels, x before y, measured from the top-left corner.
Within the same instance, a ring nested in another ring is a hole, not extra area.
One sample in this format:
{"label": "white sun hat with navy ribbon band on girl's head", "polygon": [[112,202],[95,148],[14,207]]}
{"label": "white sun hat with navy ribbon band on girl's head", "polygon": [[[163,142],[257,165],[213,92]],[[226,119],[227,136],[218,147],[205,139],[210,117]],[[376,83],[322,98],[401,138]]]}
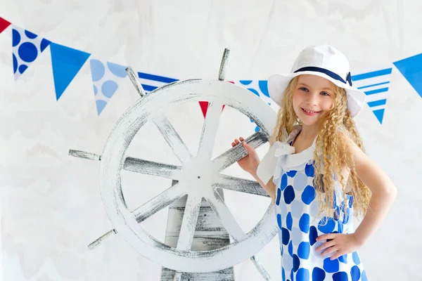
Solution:
{"label": "white sun hat with navy ribbon band on girl's head", "polygon": [[301,74],[324,77],[345,89],[347,108],[352,117],[355,117],[365,104],[365,93],[352,86],[349,61],[343,53],[330,45],[309,46],[300,52],[293,63],[291,73],[272,74],[268,79],[270,98],[281,106],[281,98],[283,98],[288,83]]}

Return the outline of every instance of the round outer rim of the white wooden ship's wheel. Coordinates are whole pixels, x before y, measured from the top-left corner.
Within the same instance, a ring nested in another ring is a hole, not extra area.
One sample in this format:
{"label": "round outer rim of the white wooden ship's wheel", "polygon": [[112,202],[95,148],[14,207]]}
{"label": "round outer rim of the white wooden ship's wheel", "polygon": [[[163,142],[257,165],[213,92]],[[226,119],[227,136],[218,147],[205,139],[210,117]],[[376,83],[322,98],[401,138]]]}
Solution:
{"label": "round outer rim of the white wooden ship's wheel", "polygon": [[[243,236],[241,236],[238,229],[233,231],[237,234],[233,234],[228,230],[229,234],[241,237],[241,239],[237,239],[237,241],[226,247],[211,251],[181,250],[168,247],[166,244],[155,240],[154,237],[141,228],[134,213],[127,208],[120,185],[120,171],[125,164],[125,152],[137,131],[141,129],[141,126],[146,123],[148,118],[153,116],[154,112],[158,112],[164,106],[200,100],[207,100],[215,106],[226,105],[234,107],[250,117],[261,129],[256,139],[262,143],[267,141],[270,130],[274,128],[276,112],[271,110],[264,100],[250,93],[250,91],[226,81],[186,80],[157,89],[129,107],[111,131],[101,158],[101,197],[108,217],[117,233],[122,235],[129,244],[132,244],[136,251],[146,256],[147,259],[166,268],[184,272],[209,272],[234,266],[256,254],[276,235],[276,223],[272,217],[274,207],[270,204],[261,221],[249,233],[243,233]],[[262,141],[264,138],[265,141]],[[217,157],[211,161],[206,159],[206,156],[210,155],[210,153],[204,152],[203,155],[203,159],[198,155],[199,159],[197,160],[199,162],[210,161],[211,164],[215,165],[216,171],[221,171],[222,168],[225,169],[227,165],[230,166],[227,163],[233,161],[231,159],[231,161],[227,162],[224,157]],[[190,163],[192,164],[193,162]],[[186,171],[189,171],[189,169]],[[162,197],[152,202],[151,206],[160,208],[163,206],[161,201],[164,201],[166,204],[164,207],[166,207],[171,202],[184,196],[186,194],[184,192],[189,190],[188,183],[193,181],[193,178],[189,181],[186,180],[188,172],[184,174],[182,171],[177,171],[174,175],[180,177],[179,183],[165,190],[166,193],[163,192]],[[196,175],[193,174],[194,176]],[[213,193],[215,195],[216,186],[218,184],[213,185],[209,190],[207,193],[208,197],[211,198]],[[192,198],[195,199],[197,196],[200,195],[195,195]],[[214,201],[210,200],[209,203],[210,205],[214,204],[214,207],[221,206],[218,197],[217,201],[215,198]],[[195,201],[193,201],[193,205],[195,205]],[[141,211],[148,213],[145,209]],[[145,214],[145,216],[148,217],[148,214]],[[224,218],[226,213],[222,214],[222,216]]]}

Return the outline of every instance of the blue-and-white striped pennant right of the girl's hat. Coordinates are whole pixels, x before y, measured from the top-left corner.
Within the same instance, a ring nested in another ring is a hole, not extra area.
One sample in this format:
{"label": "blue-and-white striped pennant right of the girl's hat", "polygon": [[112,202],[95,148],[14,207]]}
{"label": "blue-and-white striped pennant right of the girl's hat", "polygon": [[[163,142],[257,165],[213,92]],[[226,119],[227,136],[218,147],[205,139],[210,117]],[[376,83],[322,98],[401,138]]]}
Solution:
{"label": "blue-and-white striped pennant right of the girl's hat", "polygon": [[366,93],[366,103],[380,124],[383,124],[391,72],[392,67],[388,65],[377,70],[352,75],[353,86]]}

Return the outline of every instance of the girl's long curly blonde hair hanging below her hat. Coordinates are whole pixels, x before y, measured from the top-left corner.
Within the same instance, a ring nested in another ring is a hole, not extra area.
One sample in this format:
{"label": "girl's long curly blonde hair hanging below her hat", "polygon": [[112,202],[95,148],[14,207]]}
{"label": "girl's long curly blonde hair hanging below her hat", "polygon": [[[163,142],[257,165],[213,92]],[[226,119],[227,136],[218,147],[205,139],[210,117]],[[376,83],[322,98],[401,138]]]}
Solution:
{"label": "girl's long curly blonde hair hanging below her hat", "polygon": [[[286,129],[287,133],[290,134],[293,131],[293,126],[301,124],[300,119],[293,110],[292,101],[295,87],[298,84],[298,77],[290,81],[283,93],[281,107],[277,113],[276,127],[269,139],[270,145],[273,145],[276,141],[286,141],[281,139],[283,129]],[[352,117],[350,117],[349,110],[347,110],[345,89],[335,86],[333,106],[331,110],[321,116],[317,126],[318,135],[316,136],[313,165],[315,171],[314,188],[316,190],[316,198],[319,200],[319,214],[324,213],[326,216],[333,217],[335,211],[333,209],[335,185],[340,184],[344,198],[346,198],[346,186],[350,188],[347,194],[353,196],[352,207],[354,215],[364,216],[371,199],[371,191],[357,177],[354,165],[352,165],[352,168],[348,168],[350,169],[348,178],[345,178],[341,171],[345,160],[353,162],[353,158],[351,152],[345,149],[345,143],[343,143],[343,138],[341,138],[338,131],[339,128],[365,152],[362,139],[357,132]],[[345,151],[345,154],[341,156],[338,150],[339,143],[342,145],[343,151]],[[318,155],[319,151],[322,151],[321,157]],[[345,157],[345,159],[342,159],[342,157]],[[347,203],[345,202],[345,207],[348,207]]]}

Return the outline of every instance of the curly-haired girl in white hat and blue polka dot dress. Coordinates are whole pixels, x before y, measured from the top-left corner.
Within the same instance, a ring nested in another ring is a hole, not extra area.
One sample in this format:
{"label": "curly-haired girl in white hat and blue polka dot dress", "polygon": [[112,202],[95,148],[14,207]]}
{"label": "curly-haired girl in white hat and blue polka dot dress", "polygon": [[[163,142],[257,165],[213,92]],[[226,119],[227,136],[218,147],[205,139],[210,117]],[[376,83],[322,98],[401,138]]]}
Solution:
{"label": "curly-haired girl in white hat and blue polka dot dress", "polygon": [[[387,214],[396,188],[364,152],[352,117],[365,94],[352,86],[347,58],[332,46],[309,46],[292,73],[269,78],[268,90],[280,106],[271,148],[260,162],[239,138],[248,155],[238,164],[275,204],[281,279],[366,280],[357,249]],[[355,231],[352,211],[364,216]]]}

